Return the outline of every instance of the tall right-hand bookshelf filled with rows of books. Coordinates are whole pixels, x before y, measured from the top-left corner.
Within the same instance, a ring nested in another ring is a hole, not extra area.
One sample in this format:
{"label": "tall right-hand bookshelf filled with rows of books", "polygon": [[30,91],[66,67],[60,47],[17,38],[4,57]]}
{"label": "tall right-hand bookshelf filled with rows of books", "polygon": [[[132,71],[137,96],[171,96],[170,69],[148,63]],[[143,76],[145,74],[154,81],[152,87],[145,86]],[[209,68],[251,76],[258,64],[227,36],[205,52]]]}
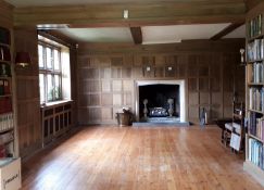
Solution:
{"label": "tall right-hand bookshelf filled with rows of books", "polygon": [[264,186],[264,9],[247,15],[247,68],[244,170]]}

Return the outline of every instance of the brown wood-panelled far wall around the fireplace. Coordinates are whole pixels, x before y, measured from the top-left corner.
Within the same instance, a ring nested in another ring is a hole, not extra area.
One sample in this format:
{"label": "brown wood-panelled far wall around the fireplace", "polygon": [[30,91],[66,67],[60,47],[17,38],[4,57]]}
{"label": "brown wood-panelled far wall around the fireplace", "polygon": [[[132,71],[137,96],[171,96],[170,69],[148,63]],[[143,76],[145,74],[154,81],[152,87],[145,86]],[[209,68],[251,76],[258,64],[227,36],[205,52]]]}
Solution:
{"label": "brown wood-panelled far wall around the fireplace", "polygon": [[199,122],[200,107],[206,109],[211,121],[231,116],[234,90],[240,99],[244,96],[244,67],[239,65],[242,47],[243,40],[79,45],[78,122],[116,123],[115,113],[123,106],[135,113],[135,83],[152,79],[186,81],[186,114],[190,122]]}

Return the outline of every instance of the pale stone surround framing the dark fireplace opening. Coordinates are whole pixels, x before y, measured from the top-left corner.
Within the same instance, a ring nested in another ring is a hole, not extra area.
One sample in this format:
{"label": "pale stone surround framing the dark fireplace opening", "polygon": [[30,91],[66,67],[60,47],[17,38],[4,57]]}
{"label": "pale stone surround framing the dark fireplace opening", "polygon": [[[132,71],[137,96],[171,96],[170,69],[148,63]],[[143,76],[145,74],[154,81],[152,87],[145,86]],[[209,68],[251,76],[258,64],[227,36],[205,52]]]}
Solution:
{"label": "pale stone surround framing the dark fireplace opening", "polygon": [[148,85],[179,85],[179,121],[186,122],[186,97],[185,97],[185,80],[137,80],[135,83],[136,88],[136,118],[137,122],[139,118],[139,87]]}

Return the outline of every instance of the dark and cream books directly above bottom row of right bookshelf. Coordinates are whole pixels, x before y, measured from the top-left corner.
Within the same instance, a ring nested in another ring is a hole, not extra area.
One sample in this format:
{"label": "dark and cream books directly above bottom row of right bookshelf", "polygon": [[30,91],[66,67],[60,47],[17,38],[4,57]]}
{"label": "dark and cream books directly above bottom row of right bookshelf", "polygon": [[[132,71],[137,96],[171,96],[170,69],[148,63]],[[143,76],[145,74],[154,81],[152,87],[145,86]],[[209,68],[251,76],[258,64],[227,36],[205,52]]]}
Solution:
{"label": "dark and cream books directly above bottom row of right bookshelf", "polygon": [[264,117],[262,114],[251,112],[249,116],[249,132],[264,141]]}

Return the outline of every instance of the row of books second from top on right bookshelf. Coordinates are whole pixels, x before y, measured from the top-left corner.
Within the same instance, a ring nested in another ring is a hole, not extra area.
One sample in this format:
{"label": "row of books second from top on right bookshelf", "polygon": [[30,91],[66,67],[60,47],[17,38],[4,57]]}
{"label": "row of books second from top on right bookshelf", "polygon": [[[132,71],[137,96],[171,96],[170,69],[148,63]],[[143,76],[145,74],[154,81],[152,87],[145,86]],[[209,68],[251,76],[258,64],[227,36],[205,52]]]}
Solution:
{"label": "row of books second from top on right bookshelf", "polygon": [[249,61],[264,59],[264,39],[255,39],[248,43],[248,59]]}

